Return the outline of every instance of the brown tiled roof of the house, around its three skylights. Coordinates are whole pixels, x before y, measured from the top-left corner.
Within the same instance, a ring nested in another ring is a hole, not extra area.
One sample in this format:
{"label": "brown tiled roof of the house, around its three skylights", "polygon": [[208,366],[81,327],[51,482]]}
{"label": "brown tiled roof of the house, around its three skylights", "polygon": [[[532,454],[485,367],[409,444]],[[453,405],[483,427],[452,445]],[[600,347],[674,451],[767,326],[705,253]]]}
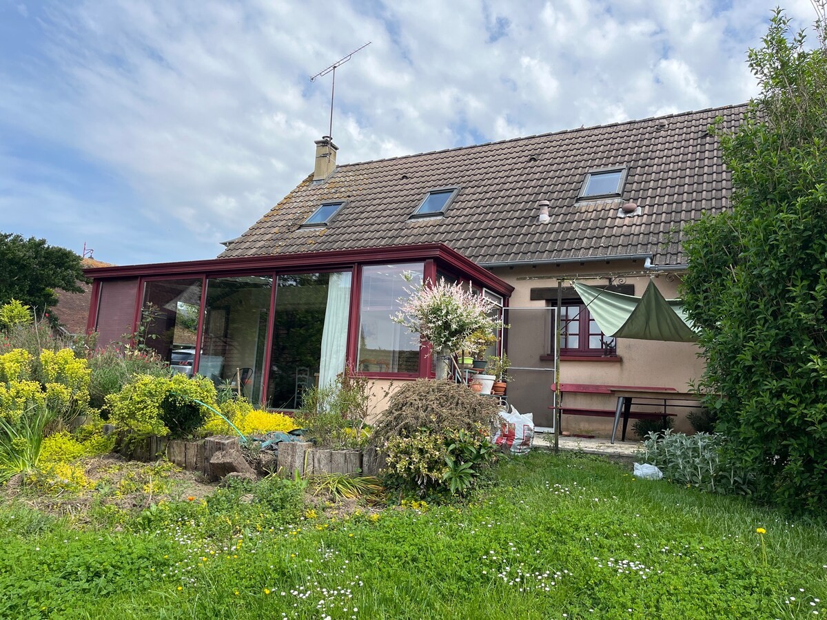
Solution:
{"label": "brown tiled roof of the house, around its three skylights", "polygon": [[[321,183],[305,179],[220,257],[440,242],[482,265],[641,254],[682,264],[682,224],[729,204],[729,172],[710,124],[723,117],[731,131],[744,111],[718,107],[339,165]],[[576,202],[586,173],[612,166],[629,169],[623,200]],[[409,219],[428,190],[454,186],[445,217]],[[332,200],[347,204],[326,228],[299,227]],[[551,203],[547,223],[538,222],[540,200]],[[629,201],[641,213],[619,217]]]}

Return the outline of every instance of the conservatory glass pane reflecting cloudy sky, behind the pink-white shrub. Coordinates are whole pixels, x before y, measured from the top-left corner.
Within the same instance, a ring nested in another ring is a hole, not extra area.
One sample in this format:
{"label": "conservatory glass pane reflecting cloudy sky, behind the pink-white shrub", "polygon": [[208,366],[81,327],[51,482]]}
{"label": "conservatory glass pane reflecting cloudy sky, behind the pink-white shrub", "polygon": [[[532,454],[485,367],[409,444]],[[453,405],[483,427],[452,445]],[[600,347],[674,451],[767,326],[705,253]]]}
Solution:
{"label": "conservatory glass pane reflecting cloudy sky, behind the pink-white shrub", "polygon": [[421,284],[422,278],[422,263],[362,268],[359,370],[418,373],[419,336],[390,317],[402,306],[399,298],[407,297],[405,289]]}

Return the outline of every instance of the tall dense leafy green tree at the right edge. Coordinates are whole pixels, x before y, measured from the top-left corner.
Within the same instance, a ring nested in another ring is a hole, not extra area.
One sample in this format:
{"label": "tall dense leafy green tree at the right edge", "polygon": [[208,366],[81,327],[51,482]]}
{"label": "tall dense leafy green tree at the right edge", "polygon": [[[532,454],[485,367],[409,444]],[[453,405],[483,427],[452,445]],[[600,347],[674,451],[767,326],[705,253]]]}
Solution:
{"label": "tall dense leafy green tree at the right edge", "polygon": [[825,21],[815,32],[806,50],[777,10],[749,51],[762,93],[719,135],[733,208],[688,228],[683,284],[716,430],[762,499],[813,513],[827,508]]}

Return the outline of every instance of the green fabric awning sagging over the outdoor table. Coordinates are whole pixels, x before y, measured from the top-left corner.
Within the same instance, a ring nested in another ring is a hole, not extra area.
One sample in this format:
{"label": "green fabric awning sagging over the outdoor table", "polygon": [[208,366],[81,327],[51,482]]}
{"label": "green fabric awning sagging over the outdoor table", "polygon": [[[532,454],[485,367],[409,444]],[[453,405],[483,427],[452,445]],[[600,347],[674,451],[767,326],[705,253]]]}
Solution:
{"label": "green fabric awning sagging over the outdoor table", "polygon": [[575,282],[574,288],[606,336],[675,342],[698,339],[681,300],[663,298],[653,280],[649,280],[643,297],[611,293],[580,282]]}

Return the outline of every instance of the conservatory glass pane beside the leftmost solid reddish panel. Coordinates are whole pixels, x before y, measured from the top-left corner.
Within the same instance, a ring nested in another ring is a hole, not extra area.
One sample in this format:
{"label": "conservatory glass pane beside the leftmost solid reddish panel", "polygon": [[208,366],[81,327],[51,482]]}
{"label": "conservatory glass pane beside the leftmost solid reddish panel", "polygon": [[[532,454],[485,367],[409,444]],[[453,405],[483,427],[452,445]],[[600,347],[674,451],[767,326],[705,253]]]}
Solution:
{"label": "conservatory glass pane beside the leftmost solid reddish panel", "polygon": [[153,280],[144,285],[140,335],[170,368],[192,376],[198,341],[201,279]]}

